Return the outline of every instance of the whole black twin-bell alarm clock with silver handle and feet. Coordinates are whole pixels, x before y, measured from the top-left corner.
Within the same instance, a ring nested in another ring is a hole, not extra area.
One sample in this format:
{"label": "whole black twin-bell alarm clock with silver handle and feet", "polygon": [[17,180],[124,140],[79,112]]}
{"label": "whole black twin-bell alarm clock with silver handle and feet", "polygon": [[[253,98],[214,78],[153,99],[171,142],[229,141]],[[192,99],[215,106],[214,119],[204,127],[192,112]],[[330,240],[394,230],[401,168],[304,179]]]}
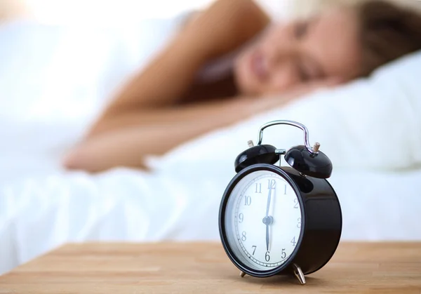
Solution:
{"label": "whole black twin-bell alarm clock with silver handle and feet", "polygon": [[[262,145],[263,131],[275,125],[300,128],[305,145]],[[222,246],[241,277],[291,275],[304,285],[305,275],[332,258],[342,233],[340,202],[326,180],[332,162],[296,121],[266,123],[248,147],[235,159],[236,175],[220,203]]]}

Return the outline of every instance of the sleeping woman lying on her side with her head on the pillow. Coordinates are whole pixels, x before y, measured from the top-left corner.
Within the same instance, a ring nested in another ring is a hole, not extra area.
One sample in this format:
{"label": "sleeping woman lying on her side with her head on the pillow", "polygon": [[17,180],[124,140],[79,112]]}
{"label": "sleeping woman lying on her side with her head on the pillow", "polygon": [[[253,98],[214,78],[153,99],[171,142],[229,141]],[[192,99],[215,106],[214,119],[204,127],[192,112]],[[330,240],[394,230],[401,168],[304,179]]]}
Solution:
{"label": "sleeping woman lying on her side with her head on the pillow", "polygon": [[64,165],[144,168],[148,154],[421,49],[421,16],[383,1],[274,23],[253,0],[194,15],[107,105]]}

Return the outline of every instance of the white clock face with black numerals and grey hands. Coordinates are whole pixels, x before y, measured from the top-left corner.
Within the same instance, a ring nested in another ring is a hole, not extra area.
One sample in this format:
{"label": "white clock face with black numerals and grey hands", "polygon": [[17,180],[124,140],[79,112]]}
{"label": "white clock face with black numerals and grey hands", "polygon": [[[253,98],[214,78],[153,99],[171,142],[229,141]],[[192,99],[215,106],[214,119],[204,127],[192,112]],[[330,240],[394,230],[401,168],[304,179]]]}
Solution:
{"label": "white clock face with black numerals and grey hands", "polygon": [[257,271],[284,265],[302,232],[302,209],[293,187],[272,171],[254,171],[232,189],[225,209],[227,245],[236,260]]}

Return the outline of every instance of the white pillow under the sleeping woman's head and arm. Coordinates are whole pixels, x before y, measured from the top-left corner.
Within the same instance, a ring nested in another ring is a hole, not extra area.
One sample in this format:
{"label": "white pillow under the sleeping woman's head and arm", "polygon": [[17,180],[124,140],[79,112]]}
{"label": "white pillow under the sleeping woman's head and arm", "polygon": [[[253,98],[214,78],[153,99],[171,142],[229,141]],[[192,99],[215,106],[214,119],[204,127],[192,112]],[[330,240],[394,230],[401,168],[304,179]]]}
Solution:
{"label": "white pillow under the sleeping woman's head and arm", "polygon": [[[149,164],[161,169],[189,164],[233,168],[246,142],[258,139],[262,124],[290,119],[309,128],[310,142],[321,143],[335,168],[415,168],[421,166],[420,76],[421,51],[380,67],[368,79],[313,93],[186,142],[165,156],[151,157]],[[302,145],[303,135],[298,128],[274,126],[265,131],[263,143],[288,149]]]}

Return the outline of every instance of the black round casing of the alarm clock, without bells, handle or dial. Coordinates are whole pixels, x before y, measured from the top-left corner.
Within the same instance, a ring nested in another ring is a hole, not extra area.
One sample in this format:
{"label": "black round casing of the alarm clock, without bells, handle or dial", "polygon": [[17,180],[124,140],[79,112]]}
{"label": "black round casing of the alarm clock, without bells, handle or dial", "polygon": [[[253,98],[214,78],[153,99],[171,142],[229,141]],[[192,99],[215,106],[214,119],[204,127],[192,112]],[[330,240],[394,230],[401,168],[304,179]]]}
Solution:
{"label": "black round casing of the alarm clock, without bells, handle or dial", "polygon": [[[271,171],[281,175],[295,190],[302,213],[301,234],[295,250],[283,265],[270,271],[252,269],[236,258],[227,241],[225,229],[225,213],[230,194],[243,177],[255,171]],[[225,252],[241,272],[257,277],[291,274],[293,265],[299,265],[303,274],[311,274],[326,265],[338,247],[342,233],[342,211],[338,196],[326,179],[305,176],[290,167],[258,163],[243,168],[229,182],[220,204],[219,230]]]}

